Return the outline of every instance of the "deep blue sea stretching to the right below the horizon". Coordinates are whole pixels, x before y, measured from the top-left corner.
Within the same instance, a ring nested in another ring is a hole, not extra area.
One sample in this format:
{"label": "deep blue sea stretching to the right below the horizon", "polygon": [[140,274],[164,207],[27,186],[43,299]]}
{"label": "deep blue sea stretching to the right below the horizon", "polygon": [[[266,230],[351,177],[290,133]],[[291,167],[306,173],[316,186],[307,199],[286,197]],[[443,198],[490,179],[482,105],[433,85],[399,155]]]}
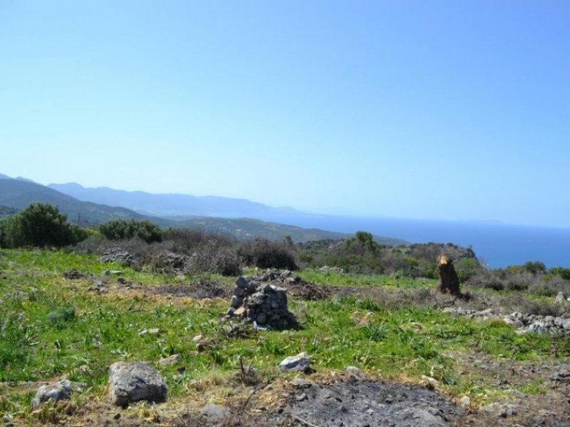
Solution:
{"label": "deep blue sea stretching to the right below the horizon", "polygon": [[[287,218],[281,218],[286,223]],[[541,261],[548,268],[570,267],[570,228],[508,226],[495,223],[419,221],[342,216],[292,216],[289,223],[328,231],[402,238],[410,243],[471,246],[490,268]]]}

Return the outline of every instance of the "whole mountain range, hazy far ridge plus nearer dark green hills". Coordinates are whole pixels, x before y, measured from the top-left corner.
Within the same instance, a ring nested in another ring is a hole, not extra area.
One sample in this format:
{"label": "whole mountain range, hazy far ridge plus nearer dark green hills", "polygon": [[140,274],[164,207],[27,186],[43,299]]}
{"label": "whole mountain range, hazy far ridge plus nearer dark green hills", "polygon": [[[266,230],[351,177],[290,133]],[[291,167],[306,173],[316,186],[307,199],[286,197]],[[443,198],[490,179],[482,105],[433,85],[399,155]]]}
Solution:
{"label": "whole mountain range, hazy far ridge plus nearer dark green hills", "polygon": [[[115,218],[133,218],[150,220],[162,228],[200,228],[231,234],[239,239],[282,239],[291,236],[294,241],[302,242],[349,236],[348,233],[271,221],[271,218],[279,220],[310,214],[245,199],[150,194],[107,187],[90,189],[75,183],[43,186],[29,179],[13,179],[0,174],[0,215],[25,209],[33,202],[54,204],[70,221],[81,226],[98,226]],[[405,243],[399,239],[378,236],[376,240],[383,244]]]}

